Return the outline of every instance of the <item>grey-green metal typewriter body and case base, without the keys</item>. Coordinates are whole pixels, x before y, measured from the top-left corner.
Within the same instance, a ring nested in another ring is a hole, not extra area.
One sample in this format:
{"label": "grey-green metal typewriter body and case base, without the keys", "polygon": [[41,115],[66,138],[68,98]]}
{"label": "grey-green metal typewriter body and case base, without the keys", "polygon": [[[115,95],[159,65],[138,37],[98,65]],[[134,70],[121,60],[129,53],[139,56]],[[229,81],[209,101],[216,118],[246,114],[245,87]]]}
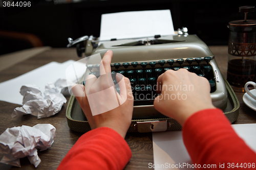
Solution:
{"label": "grey-green metal typewriter body and case base, without the keys", "polygon": [[[151,41],[151,42],[150,42]],[[84,41],[86,46],[93,46],[92,41]],[[143,45],[141,43],[150,44]],[[152,42],[154,44],[152,44]],[[90,49],[90,48],[89,48]],[[208,46],[200,40],[196,35],[169,35],[152,40],[146,39],[124,39],[115,41],[105,41],[100,43],[91,55],[100,53],[103,57],[108,50],[113,51],[112,70],[115,70],[114,63],[130,63],[129,68],[124,68],[122,65],[118,70],[134,69],[131,62],[156,62],[159,60],[174,59],[172,67],[178,66],[193,66],[198,65],[196,58],[202,58],[201,65],[211,66],[212,80],[215,81],[215,91],[211,92],[211,99],[214,106],[222,109],[224,114],[234,122],[239,115],[239,101],[236,94],[228,82],[222,77],[219,67],[214,59],[214,55],[209,50]],[[88,55],[88,50],[84,50]],[[206,61],[205,57],[210,57],[210,61]],[[187,58],[193,58],[193,62],[188,64]],[[179,64],[177,59],[184,59],[183,64]],[[165,63],[167,66],[168,63]],[[158,65],[158,67],[160,67]],[[168,66],[170,67],[170,66]],[[136,69],[142,67],[138,64]],[[146,68],[151,68],[147,65]],[[146,69],[143,68],[143,69]],[[89,71],[85,74],[89,74]],[[66,116],[69,127],[78,132],[87,132],[90,130],[89,123],[84,116],[78,102],[74,96],[71,96]],[[132,124],[128,132],[157,132],[180,130],[182,127],[173,118],[166,117],[159,113],[153,105],[137,105],[134,106]]]}

